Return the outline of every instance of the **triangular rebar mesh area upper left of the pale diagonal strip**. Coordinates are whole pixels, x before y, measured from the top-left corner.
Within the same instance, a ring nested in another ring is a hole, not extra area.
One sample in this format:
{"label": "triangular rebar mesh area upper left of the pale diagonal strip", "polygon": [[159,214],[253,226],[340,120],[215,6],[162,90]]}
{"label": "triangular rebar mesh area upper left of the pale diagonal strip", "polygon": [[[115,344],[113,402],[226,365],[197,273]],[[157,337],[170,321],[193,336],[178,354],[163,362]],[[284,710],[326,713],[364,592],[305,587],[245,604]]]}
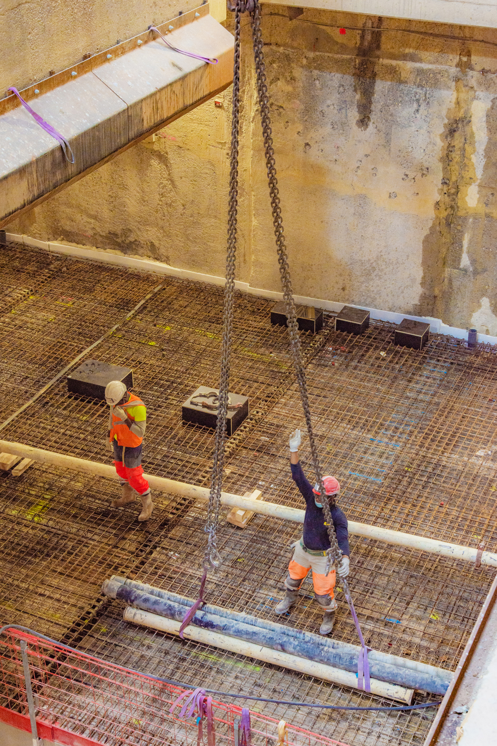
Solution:
{"label": "triangular rebar mesh area upper left of the pale diagonal strip", "polygon": [[28,251],[27,264],[37,272],[31,278],[31,292],[21,295],[28,284],[28,270],[25,268],[19,278],[19,286],[14,286],[13,267],[16,259],[22,263],[21,251],[9,249],[14,254],[10,276],[3,276],[1,283],[8,283],[4,291],[12,293],[16,302],[1,316],[0,350],[2,359],[8,361],[0,369],[1,420],[113,327],[157,284],[151,275],[126,271],[117,275],[115,269],[97,270],[83,261],[53,257],[48,258],[48,269],[38,272],[37,262],[29,261],[36,252]]}

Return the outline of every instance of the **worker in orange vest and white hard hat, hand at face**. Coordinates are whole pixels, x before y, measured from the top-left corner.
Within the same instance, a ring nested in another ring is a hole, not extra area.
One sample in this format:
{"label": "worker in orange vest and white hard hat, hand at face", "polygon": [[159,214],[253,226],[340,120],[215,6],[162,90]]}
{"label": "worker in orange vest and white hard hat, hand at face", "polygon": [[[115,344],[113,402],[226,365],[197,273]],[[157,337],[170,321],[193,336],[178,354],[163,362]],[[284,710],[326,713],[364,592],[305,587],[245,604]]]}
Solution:
{"label": "worker in orange vest and white hard hat, hand at face", "polygon": [[142,501],[139,521],[151,517],[153,502],[148,481],[143,477],[142,442],[145,435],[147,410],[142,400],[130,394],[120,380],[111,380],[105,389],[105,401],[110,405],[109,450],[114,451],[115,471],[121,477],[122,497],[111,506],[120,508],[136,500]]}

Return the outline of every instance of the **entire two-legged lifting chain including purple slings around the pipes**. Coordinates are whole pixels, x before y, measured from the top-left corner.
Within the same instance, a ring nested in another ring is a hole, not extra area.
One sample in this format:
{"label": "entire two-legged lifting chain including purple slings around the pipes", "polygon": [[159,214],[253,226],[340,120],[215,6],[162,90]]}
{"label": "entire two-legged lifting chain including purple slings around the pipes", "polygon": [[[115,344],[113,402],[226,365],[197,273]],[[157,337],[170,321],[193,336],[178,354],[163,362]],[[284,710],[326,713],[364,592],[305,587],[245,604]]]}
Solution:
{"label": "entire two-legged lifting chain including purple slings around the pipes", "polygon": [[[306,417],[309,443],[311,445],[312,463],[316,474],[320,493],[323,495],[323,513],[326,519],[326,529],[329,536],[329,549],[326,552],[326,575],[335,564],[341,562],[342,551],[338,546],[335,534],[335,526],[332,520],[332,510],[326,499],[326,490],[323,485],[323,475],[319,456],[317,454],[314,430],[312,429],[311,411],[308,404],[308,392],[306,383],[306,372],[304,370],[302,347],[300,345],[299,327],[297,313],[295,310],[294,296],[291,288],[290,270],[288,269],[288,254],[283,233],[281,207],[279,205],[278,181],[276,179],[276,166],[274,160],[273,138],[269,114],[268,85],[266,83],[266,70],[263,52],[260,5],[259,0],[235,0],[234,4],[228,2],[229,10],[235,10],[235,57],[233,66],[233,93],[232,93],[232,125],[231,125],[231,150],[229,171],[229,211],[228,211],[228,246],[227,246],[227,269],[226,285],[224,288],[224,315],[223,315],[223,340],[221,344],[221,380],[219,384],[219,407],[218,421],[215,430],[214,460],[212,465],[211,488],[209,492],[209,505],[207,508],[206,533],[208,533],[207,546],[203,559],[203,577],[200,583],[200,592],[197,601],[189,609],[180,627],[180,637],[187,627],[195,612],[204,603],[203,591],[206,585],[207,571],[210,567],[216,568],[221,562],[218,552],[216,530],[218,527],[219,510],[221,507],[221,486],[224,470],[224,446],[226,442],[226,419],[228,410],[229,392],[229,366],[233,324],[233,292],[235,290],[235,264],[236,264],[236,231],[238,213],[238,129],[240,108],[240,31],[241,13],[250,13],[253,38],[253,52],[256,63],[257,93],[259,96],[259,107],[261,110],[262,134],[264,137],[266,166],[268,169],[269,193],[271,207],[273,210],[274,234],[276,236],[276,247],[278,251],[279,274],[282,278],[283,298],[286,305],[288,334],[290,336],[291,355],[294,362],[295,373],[299,383],[300,398],[304,415]],[[349,592],[346,578],[341,578],[342,586],[347,603],[349,604],[355,627],[361,640],[362,652],[359,656],[358,665],[358,687],[370,692],[369,664],[367,661],[367,650],[364,637],[361,633],[354,604]]]}

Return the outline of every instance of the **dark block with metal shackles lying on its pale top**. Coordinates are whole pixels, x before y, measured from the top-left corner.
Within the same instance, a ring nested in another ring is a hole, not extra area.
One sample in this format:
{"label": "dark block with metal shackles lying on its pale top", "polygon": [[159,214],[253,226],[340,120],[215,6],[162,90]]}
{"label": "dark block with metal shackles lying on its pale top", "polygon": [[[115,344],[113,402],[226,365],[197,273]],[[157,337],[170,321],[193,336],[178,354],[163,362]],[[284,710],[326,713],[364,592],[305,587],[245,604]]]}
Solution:
{"label": "dark block with metal shackles lying on its pale top", "polygon": [[[216,406],[218,395],[219,389],[199,386],[181,407],[183,421],[215,429],[218,421],[218,407]],[[249,415],[248,396],[229,394],[228,407],[234,407],[228,409],[226,419],[226,431],[227,435],[230,436],[235,430],[238,430],[238,427]]]}

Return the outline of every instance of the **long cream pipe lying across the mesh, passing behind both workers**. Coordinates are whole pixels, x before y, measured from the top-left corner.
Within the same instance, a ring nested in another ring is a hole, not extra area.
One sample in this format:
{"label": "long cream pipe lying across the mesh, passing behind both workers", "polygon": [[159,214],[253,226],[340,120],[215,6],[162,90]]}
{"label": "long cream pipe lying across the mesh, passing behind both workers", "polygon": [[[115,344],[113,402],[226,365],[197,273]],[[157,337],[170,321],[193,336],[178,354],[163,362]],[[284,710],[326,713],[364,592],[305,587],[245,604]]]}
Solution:
{"label": "long cream pipe lying across the mesh, passing behind both workers", "polygon": [[[105,477],[106,479],[113,480],[118,480],[119,478],[113,466],[96,463],[95,461],[77,459],[73,456],[54,454],[51,451],[42,451],[41,448],[31,448],[30,445],[23,445],[22,443],[10,443],[7,440],[0,440],[0,452],[34,459],[35,461],[53,464],[54,466],[75,469],[75,471],[83,471],[83,473],[92,474],[95,477]],[[197,487],[194,484],[176,482],[172,479],[165,479],[165,477],[152,477],[148,474],[145,474],[145,477],[151,488],[158,489],[160,492],[170,492],[174,495],[183,495],[184,497],[204,502],[209,500],[209,489],[206,487]],[[229,507],[241,508],[242,510],[253,510],[254,513],[270,515],[272,518],[284,518],[285,521],[294,521],[295,523],[304,522],[303,510],[276,503],[267,503],[261,500],[248,500],[247,498],[242,498],[241,495],[232,495],[230,492],[221,492],[221,503]],[[355,534],[355,536],[363,536],[365,539],[378,539],[380,542],[387,542],[387,544],[395,544],[400,547],[416,549],[417,551],[439,554],[442,557],[452,557],[454,560],[464,560],[465,562],[475,562],[476,560],[476,548],[463,547],[458,544],[450,544],[449,542],[440,542],[437,539],[428,539],[424,536],[415,536],[411,533],[393,531],[380,526],[370,526],[365,523],[349,521],[349,533]],[[481,564],[497,567],[497,554],[483,552],[481,554]]]}

